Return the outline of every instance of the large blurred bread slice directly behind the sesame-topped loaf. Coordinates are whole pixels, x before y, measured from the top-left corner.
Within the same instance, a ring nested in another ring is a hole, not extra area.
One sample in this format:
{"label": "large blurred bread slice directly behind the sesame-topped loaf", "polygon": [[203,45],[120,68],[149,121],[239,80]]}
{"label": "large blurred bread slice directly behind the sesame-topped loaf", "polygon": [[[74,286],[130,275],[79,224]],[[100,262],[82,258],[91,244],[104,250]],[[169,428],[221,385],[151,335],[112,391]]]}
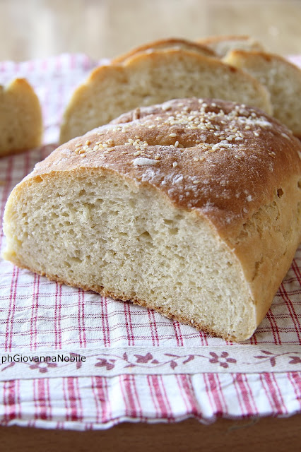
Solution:
{"label": "large blurred bread slice directly behind the sesame-topped loaf", "polygon": [[141,52],[95,69],[64,113],[60,142],[107,124],[136,107],[179,97],[215,97],[271,113],[266,88],[241,69],[184,49]]}

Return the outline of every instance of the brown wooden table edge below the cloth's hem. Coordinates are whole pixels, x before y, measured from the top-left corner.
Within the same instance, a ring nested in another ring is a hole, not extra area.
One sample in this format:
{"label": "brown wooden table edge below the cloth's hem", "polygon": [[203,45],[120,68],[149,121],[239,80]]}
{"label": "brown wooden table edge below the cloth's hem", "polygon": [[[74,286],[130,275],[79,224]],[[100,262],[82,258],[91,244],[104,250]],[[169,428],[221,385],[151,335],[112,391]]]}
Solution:
{"label": "brown wooden table edge below the cloth's hem", "polygon": [[299,452],[301,415],[289,419],[224,420],[203,425],[119,424],[104,431],[1,427],[5,452]]}

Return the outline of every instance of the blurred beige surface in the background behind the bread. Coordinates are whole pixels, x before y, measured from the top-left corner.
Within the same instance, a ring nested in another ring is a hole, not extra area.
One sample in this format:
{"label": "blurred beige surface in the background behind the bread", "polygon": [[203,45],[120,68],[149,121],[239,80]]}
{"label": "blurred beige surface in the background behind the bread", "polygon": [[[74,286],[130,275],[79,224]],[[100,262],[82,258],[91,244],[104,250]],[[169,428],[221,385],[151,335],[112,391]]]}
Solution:
{"label": "blurred beige surface in the background behind the bread", "polygon": [[300,54],[299,0],[0,0],[0,61],[114,57],[160,37],[249,34]]}

